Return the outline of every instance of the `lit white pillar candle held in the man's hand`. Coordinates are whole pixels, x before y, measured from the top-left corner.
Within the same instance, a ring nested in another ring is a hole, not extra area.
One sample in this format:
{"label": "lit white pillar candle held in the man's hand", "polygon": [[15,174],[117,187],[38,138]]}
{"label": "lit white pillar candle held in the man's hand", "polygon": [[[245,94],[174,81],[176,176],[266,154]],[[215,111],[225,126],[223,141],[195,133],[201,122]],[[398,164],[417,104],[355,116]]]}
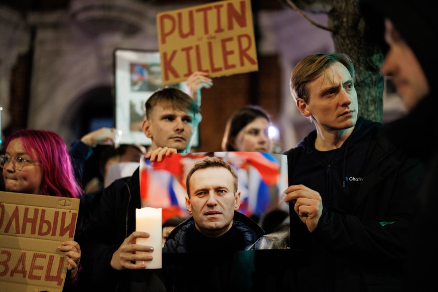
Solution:
{"label": "lit white pillar candle held in the man's hand", "polygon": [[[136,261],[144,263],[148,269],[162,268],[162,209],[161,208],[141,208],[135,209],[135,230],[148,232],[149,238],[137,238],[136,244],[149,245],[154,247],[153,252],[141,252],[151,254],[152,261]],[[139,252],[137,252],[139,253]]]}

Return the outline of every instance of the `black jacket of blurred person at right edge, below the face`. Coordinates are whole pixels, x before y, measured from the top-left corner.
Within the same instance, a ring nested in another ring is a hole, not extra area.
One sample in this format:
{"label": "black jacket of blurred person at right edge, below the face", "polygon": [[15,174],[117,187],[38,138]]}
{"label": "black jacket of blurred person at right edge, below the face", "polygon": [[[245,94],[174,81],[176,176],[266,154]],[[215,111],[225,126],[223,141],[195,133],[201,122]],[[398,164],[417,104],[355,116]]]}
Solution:
{"label": "black jacket of blurred person at right edge, below the face", "polygon": [[[435,143],[438,123],[433,121],[437,108],[438,96],[426,97],[409,115],[394,122],[390,133],[400,148],[426,163],[426,174],[417,193],[419,202],[409,245],[406,292],[426,291],[435,284],[435,271],[430,266],[438,261],[435,240],[438,236],[438,151]],[[429,118],[432,120],[426,121]]]}

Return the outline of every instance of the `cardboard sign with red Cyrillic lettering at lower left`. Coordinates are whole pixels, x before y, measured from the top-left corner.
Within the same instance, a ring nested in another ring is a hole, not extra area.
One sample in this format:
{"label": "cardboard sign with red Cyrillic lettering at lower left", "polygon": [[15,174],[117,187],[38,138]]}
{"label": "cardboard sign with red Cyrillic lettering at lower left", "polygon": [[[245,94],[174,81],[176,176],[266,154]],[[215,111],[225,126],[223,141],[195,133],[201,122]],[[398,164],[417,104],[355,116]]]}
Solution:
{"label": "cardboard sign with red Cyrillic lettering at lower left", "polygon": [[0,192],[2,291],[62,291],[68,262],[57,247],[74,238],[79,201]]}

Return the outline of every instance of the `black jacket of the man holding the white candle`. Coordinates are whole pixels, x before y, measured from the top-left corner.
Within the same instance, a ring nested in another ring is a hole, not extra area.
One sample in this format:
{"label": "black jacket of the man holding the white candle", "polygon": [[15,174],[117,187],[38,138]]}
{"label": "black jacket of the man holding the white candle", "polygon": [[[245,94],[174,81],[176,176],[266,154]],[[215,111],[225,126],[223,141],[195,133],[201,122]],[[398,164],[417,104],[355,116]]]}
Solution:
{"label": "black jacket of the man holding the white candle", "polygon": [[112,254],[135,231],[135,209],[141,208],[139,185],[137,169],[132,177],[116,180],[107,187],[84,231],[82,274],[87,276],[86,288],[90,291],[166,290],[161,269],[119,271],[110,266]]}

